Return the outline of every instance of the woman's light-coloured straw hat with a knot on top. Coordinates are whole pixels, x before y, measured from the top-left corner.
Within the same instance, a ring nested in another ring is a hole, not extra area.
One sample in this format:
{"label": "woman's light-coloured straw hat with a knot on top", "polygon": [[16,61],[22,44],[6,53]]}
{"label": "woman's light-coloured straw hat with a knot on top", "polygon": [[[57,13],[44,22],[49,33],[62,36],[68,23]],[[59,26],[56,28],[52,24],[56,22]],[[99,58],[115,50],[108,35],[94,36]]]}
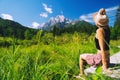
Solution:
{"label": "woman's light-coloured straw hat with a knot on top", "polygon": [[97,13],[93,15],[93,20],[97,26],[108,25],[109,19],[106,15],[105,9],[101,8]]}

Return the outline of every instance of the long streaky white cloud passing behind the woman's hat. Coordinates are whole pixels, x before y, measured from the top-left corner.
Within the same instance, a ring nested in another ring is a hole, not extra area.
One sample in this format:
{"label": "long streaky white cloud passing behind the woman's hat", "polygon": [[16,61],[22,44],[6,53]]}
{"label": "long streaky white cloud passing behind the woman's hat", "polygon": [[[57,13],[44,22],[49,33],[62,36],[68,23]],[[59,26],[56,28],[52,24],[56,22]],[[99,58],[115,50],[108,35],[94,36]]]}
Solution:
{"label": "long streaky white cloud passing behind the woman's hat", "polygon": [[[118,6],[114,6],[114,7],[110,7],[110,8],[105,9],[107,16],[109,17],[110,24],[114,23],[117,8],[118,8]],[[80,18],[80,20],[85,20],[87,22],[94,23],[93,18],[92,18],[94,13],[96,13],[96,12],[83,14],[79,18]]]}

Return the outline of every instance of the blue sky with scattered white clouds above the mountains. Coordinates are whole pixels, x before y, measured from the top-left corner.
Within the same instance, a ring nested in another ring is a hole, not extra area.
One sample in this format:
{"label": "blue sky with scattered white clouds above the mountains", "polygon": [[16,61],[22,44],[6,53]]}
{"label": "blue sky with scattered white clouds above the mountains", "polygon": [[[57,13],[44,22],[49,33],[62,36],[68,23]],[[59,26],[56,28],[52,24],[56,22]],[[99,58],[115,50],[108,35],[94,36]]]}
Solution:
{"label": "blue sky with scattered white clouds above the mountains", "polygon": [[105,8],[113,25],[118,5],[120,0],[0,0],[0,17],[37,28],[57,15],[93,23],[92,15]]}

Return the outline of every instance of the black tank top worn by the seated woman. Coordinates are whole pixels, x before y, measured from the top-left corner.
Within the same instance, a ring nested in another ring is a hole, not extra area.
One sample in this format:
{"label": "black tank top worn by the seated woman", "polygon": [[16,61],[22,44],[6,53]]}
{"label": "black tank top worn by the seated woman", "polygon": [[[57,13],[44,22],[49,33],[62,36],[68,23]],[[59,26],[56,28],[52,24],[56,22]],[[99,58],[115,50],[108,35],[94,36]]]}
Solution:
{"label": "black tank top worn by the seated woman", "polygon": [[[109,50],[109,42],[110,42],[110,29],[109,29],[109,27],[107,29],[104,29],[104,32],[105,32],[105,36],[104,36],[105,49],[104,50]],[[100,45],[99,45],[99,41],[96,37],[95,37],[95,45],[96,45],[96,48],[98,50],[101,50]]]}

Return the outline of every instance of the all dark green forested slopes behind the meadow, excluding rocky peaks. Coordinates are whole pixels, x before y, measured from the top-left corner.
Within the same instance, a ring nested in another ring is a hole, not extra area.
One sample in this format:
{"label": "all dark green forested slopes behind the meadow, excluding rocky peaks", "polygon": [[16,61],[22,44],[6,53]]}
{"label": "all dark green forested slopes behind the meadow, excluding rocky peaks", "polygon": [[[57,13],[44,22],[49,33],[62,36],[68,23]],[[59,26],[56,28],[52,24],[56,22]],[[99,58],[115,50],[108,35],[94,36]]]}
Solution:
{"label": "all dark green forested slopes behind the meadow, excluding rocky peaks", "polygon": [[[70,23],[65,26],[62,26],[61,23],[58,23],[54,26],[50,26],[49,28],[50,30],[42,31],[42,34],[50,32],[53,34],[53,36],[59,36],[63,33],[72,34],[74,32],[79,32],[90,35],[95,31],[95,26],[85,21],[78,21],[74,25]],[[30,40],[35,38],[38,33],[39,29],[28,28],[17,22],[0,18],[0,36],[2,37],[15,37],[18,39]]]}

